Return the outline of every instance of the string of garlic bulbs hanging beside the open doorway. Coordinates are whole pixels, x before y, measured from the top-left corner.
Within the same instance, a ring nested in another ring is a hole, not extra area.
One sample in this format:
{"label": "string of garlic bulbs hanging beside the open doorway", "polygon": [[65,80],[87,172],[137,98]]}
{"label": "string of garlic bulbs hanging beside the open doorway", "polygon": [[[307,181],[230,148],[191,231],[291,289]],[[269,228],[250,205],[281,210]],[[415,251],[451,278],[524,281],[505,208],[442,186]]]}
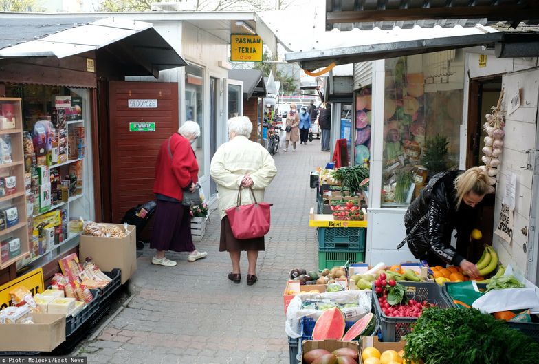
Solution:
{"label": "string of garlic bulbs hanging beside the open doorway", "polygon": [[500,98],[498,99],[498,105],[492,107],[492,113],[486,114],[485,118],[487,122],[483,124],[483,129],[487,132],[485,136],[485,147],[483,147],[484,156],[481,158],[484,166],[479,166],[487,175],[489,189],[487,193],[494,193],[494,184],[496,184],[496,175],[498,175],[498,167],[500,167],[500,156],[503,151],[503,137],[505,132],[503,127],[505,122],[503,121],[503,111],[501,110],[501,103],[503,100],[503,90],[500,93]]}

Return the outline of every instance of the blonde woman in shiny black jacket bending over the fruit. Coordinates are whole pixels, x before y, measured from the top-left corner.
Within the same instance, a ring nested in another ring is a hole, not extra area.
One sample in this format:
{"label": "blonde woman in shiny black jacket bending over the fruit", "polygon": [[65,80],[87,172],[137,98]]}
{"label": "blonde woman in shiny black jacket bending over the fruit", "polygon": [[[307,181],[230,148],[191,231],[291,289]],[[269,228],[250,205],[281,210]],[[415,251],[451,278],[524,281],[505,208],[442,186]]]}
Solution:
{"label": "blonde woman in shiny black jacket bending over the fruit", "polygon": [[[414,257],[430,266],[453,264],[478,277],[477,266],[463,252],[478,217],[476,206],[487,193],[488,178],[479,167],[434,175],[404,215],[406,239],[399,248],[407,242]],[[455,228],[456,249],[451,246]]]}

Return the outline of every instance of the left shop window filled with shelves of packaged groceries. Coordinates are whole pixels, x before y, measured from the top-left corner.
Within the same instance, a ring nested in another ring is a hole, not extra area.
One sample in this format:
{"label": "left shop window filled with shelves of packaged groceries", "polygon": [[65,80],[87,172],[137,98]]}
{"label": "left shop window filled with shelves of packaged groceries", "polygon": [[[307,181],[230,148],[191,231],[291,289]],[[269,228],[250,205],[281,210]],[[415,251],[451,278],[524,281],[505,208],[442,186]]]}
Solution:
{"label": "left shop window filled with shelves of packaged groceries", "polygon": [[[17,268],[78,244],[70,220],[93,219],[88,89],[8,84],[8,97],[22,98],[23,158],[30,255]],[[19,181],[17,181],[19,184]],[[37,262],[36,264],[39,264]]]}

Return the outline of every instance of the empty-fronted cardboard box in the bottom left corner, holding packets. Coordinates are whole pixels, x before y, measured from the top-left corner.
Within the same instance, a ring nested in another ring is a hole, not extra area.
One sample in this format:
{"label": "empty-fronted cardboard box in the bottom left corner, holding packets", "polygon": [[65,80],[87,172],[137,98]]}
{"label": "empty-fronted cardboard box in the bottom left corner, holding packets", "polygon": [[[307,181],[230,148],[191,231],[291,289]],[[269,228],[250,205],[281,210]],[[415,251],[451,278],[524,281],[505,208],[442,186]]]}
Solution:
{"label": "empty-fronted cardboard box in the bottom left corner, holding packets", "polygon": [[0,325],[0,351],[52,352],[65,341],[65,315],[32,314],[33,324]]}

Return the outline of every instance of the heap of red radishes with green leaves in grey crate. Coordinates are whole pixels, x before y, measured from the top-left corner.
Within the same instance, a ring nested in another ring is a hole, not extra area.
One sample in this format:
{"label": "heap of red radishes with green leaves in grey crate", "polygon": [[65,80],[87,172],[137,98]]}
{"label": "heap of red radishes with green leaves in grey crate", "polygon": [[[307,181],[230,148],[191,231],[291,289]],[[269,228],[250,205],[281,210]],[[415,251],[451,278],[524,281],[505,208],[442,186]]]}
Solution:
{"label": "heap of red radishes with green leaves in grey crate", "polygon": [[380,309],[389,317],[419,317],[423,308],[436,306],[427,301],[418,302],[406,297],[406,288],[394,279],[386,280],[382,272],[375,281],[375,292],[378,296]]}

